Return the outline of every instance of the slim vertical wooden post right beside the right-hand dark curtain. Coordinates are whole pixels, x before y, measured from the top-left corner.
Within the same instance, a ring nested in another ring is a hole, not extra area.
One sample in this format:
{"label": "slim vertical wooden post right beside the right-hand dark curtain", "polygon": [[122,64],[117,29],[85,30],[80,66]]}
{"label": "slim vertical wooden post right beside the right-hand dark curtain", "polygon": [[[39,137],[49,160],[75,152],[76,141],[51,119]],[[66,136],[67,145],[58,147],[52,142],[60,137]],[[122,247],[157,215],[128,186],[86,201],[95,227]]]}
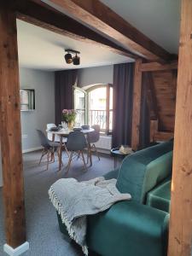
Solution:
{"label": "slim vertical wooden post right beside the right-hand dark curtain", "polygon": [[131,148],[137,150],[139,146],[140,131],[140,112],[141,112],[141,94],[142,94],[142,72],[140,65],[142,59],[135,62],[134,82],[133,82],[133,110],[132,110],[132,129],[131,129]]}

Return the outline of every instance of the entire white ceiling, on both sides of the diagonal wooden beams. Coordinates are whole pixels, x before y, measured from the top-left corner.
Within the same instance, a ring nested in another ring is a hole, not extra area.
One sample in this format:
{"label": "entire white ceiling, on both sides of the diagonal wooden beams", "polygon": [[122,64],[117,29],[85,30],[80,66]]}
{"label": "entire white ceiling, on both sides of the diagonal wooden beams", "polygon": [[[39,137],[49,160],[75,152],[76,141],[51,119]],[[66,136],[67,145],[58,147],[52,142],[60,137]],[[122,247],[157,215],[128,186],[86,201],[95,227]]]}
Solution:
{"label": "entire white ceiling, on both sides of the diagonal wooden beams", "polygon": [[[49,3],[49,0],[43,0]],[[148,38],[176,53],[179,38],[180,0],[101,0]],[[59,8],[58,8],[59,9]],[[64,10],[60,9],[63,13]],[[21,67],[45,70],[96,67],[132,61],[94,44],[82,43],[17,20]],[[79,66],[67,65],[64,49],[81,52]]]}

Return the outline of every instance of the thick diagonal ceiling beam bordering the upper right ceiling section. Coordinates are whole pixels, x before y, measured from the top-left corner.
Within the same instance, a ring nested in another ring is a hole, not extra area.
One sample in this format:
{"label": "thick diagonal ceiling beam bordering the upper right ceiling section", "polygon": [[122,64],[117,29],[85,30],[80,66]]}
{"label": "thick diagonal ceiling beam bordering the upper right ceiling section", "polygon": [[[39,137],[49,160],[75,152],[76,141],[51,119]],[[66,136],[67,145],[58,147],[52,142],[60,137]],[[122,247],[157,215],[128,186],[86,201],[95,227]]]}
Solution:
{"label": "thick diagonal ceiling beam bordering the upper right ceiling section", "polygon": [[99,0],[49,0],[88,26],[115,39],[150,61],[169,61],[172,56],[158,44],[131,26]]}

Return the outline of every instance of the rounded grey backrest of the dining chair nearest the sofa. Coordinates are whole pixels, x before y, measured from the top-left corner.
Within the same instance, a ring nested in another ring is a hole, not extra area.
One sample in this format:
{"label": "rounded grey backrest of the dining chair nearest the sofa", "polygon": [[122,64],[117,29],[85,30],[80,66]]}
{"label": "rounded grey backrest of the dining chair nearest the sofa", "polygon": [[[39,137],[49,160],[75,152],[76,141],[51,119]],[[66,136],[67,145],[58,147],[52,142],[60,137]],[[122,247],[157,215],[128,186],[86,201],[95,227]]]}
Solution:
{"label": "rounded grey backrest of the dining chair nearest the sofa", "polygon": [[83,150],[87,147],[84,133],[81,131],[71,131],[67,137],[67,149],[70,151]]}

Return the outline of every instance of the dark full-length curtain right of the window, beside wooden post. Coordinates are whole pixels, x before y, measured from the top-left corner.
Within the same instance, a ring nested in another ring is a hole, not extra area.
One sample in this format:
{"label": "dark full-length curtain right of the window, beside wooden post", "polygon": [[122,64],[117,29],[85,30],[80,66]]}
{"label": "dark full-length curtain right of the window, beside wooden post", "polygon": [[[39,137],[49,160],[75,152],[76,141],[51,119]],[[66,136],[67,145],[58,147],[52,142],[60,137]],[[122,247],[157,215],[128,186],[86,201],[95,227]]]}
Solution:
{"label": "dark full-length curtain right of the window, beside wooden post", "polygon": [[112,147],[131,145],[134,63],[113,66]]}

